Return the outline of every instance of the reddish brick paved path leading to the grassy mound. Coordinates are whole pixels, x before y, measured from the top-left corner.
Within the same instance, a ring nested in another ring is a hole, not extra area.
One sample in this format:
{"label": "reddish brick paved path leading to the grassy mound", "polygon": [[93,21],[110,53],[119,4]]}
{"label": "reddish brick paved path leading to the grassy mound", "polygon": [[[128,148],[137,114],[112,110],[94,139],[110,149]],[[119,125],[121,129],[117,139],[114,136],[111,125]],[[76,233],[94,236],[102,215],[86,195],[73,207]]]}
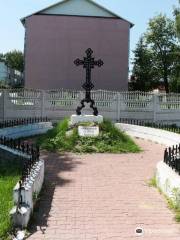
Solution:
{"label": "reddish brick paved path leading to the grassy mound", "polygon": [[[164,147],[136,141],[143,153],[45,156],[45,188],[28,239],[180,240],[164,197],[147,184]],[[135,235],[138,226],[144,236]]]}

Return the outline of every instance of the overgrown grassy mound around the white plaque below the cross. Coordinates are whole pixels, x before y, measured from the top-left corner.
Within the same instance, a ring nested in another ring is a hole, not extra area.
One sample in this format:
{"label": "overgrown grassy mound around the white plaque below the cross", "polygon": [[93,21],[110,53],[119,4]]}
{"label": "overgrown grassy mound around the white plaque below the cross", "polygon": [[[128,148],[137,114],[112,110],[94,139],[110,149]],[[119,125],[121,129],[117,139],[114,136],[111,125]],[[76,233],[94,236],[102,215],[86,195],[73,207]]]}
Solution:
{"label": "overgrown grassy mound around the white plaque below the cross", "polygon": [[[87,126],[90,123],[83,125]],[[110,121],[105,120],[99,124],[99,128],[98,137],[79,137],[77,126],[69,128],[68,119],[65,119],[47,134],[39,137],[37,144],[49,151],[75,153],[135,153],[141,151],[129,136],[115,128]],[[67,136],[66,132],[69,130],[72,134]]]}

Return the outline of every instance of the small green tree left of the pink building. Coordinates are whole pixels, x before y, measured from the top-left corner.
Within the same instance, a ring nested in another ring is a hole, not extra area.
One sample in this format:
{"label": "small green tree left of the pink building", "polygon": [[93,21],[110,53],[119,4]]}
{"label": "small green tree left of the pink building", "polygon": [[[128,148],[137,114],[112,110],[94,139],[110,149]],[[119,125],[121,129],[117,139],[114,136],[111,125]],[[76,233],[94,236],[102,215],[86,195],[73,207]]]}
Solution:
{"label": "small green tree left of the pink building", "polygon": [[11,51],[4,54],[5,63],[9,67],[23,72],[24,70],[24,54],[21,51]]}

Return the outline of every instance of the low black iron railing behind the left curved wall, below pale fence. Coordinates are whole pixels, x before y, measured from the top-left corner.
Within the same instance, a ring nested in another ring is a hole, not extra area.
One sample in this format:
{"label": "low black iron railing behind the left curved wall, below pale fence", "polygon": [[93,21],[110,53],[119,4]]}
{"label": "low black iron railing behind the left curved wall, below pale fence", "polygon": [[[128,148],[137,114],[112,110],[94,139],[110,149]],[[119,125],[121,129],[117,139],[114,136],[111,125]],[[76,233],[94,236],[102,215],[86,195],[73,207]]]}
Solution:
{"label": "low black iron railing behind the left curved wall, below pale fence", "polygon": [[34,118],[20,118],[14,120],[6,120],[0,122],[0,128],[14,127],[19,125],[27,125],[39,122],[47,122],[49,119],[47,117],[34,117]]}

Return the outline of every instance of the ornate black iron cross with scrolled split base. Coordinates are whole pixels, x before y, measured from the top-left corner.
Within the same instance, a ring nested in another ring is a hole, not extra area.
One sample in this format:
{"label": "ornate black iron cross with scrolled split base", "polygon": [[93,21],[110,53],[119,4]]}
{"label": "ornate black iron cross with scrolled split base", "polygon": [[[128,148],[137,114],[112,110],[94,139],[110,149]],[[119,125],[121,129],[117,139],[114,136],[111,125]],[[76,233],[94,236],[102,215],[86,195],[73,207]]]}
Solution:
{"label": "ornate black iron cross with scrolled split base", "polygon": [[85,98],[81,101],[81,107],[77,107],[76,113],[77,115],[81,115],[81,110],[85,107],[84,103],[90,103],[90,107],[94,111],[94,115],[98,115],[98,110],[96,107],[94,107],[95,102],[91,99],[91,90],[94,88],[94,84],[91,82],[91,70],[95,67],[101,67],[104,63],[101,59],[94,60],[92,57],[93,50],[91,48],[88,48],[86,50],[87,56],[84,57],[84,60],[80,60],[79,58],[74,61],[74,64],[76,66],[83,65],[83,68],[86,69],[86,82],[82,85],[82,87],[86,90]]}

